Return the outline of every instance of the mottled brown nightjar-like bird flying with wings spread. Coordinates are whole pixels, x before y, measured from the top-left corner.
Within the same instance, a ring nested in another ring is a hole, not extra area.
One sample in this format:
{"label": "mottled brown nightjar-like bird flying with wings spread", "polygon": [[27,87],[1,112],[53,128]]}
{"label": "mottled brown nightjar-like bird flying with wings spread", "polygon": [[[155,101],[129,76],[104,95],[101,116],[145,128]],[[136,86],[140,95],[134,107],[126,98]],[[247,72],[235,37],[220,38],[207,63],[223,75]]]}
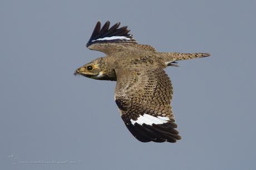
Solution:
{"label": "mottled brown nightjar-like bird flying with wings spread", "polygon": [[164,69],[177,67],[177,61],[210,56],[209,53],[158,52],[139,44],[127,26],[117,22],[102,27],[98,21],[86,47],[105,57],[76,69],[75,75],[116,81],[114,99],[121,118],[131,134],[141,142],[175,143],[177,131],[171,99],[173,86]]}

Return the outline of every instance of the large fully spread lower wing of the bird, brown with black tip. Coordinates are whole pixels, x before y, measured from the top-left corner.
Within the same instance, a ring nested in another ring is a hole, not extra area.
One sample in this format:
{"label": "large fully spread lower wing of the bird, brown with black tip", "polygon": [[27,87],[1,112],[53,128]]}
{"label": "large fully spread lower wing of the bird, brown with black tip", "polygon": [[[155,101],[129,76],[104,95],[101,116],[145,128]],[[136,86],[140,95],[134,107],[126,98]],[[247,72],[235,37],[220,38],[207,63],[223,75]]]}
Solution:
{"label": "large fully spread lower wing of the bird, brown with black tip", "polygon": [[163,69],[117,68],[115,101],[129,131],[141,142],[176,142],[170,102],[173,87]]}

